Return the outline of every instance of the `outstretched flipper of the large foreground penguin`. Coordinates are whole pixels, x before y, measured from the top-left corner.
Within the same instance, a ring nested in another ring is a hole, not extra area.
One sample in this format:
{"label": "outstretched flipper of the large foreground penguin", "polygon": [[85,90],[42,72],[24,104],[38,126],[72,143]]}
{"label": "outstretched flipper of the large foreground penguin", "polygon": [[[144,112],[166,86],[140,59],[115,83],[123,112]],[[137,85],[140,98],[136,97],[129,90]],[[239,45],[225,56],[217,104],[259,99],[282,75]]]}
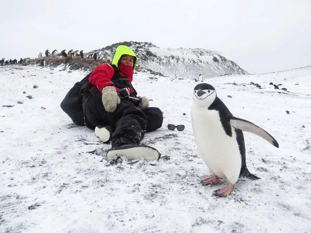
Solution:
{"label": "outstretched flipper of the large foreground penguin", "polygon": [[262,137],[263,139],[267,140],[268,142],[270,142],[275,147],[279,148],[279,144],[277,143],[276,139],[274,139],[266,130],[263,130],[262,128],[256,126],[250,121],[246,121],[238,117],[230,116],[229,118],[230,124],[234,128],[256,134]]}

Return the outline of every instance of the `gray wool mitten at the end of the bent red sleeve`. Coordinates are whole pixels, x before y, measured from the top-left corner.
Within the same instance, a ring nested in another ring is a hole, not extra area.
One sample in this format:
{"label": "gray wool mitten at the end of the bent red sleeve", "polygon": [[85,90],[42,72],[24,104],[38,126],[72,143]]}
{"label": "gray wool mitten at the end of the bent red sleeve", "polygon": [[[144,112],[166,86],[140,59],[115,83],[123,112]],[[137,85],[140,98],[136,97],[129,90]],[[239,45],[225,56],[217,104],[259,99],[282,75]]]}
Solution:
{"label": "gray wool mitten at the end of the bent red sleeve", "polygon": [[114,112],[120,103],[120,97],[114,86],[104,87],[102,90],[102,100],[107,112]]}

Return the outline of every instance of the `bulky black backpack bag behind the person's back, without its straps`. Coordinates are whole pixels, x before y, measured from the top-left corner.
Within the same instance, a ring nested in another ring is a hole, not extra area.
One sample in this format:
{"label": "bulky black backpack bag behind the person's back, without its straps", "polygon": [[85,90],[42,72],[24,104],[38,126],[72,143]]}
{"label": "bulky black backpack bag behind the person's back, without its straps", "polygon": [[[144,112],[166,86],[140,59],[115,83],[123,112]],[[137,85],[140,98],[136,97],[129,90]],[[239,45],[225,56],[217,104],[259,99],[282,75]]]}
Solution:
{"label": "bulky black backpack bag behind the person's back, without its straps", "polygon": [[[92,73],[92,72],[91,72]],[[90,89],[92,84],[89,83],[89,73],[80,82],[76,82],[75,85],[68,91],[67,95],[60,103],[60,107],[71,118],[73,123],[78,126],[84,126],[84,116],[82,108],[83,92],[85,89]]]}

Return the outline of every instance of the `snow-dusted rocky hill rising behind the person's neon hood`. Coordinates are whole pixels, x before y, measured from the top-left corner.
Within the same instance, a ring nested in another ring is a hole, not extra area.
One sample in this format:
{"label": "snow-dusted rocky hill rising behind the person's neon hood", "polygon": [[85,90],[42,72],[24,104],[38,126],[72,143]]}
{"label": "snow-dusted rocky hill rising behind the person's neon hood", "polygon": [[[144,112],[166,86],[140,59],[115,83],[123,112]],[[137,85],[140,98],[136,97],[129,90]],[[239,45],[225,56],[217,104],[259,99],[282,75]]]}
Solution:
{"label": "snow-dusted rocky hill rising behind the person's neon hood", "polygon": [[159,48],[147,42],[122,42],[86,53],[112,59],[115,49],[123,44],[130,47],[138,57],[138,65],[169,77],[215,77],[225,74],[247,74],[233,61],[215,52],[199,48]]}

